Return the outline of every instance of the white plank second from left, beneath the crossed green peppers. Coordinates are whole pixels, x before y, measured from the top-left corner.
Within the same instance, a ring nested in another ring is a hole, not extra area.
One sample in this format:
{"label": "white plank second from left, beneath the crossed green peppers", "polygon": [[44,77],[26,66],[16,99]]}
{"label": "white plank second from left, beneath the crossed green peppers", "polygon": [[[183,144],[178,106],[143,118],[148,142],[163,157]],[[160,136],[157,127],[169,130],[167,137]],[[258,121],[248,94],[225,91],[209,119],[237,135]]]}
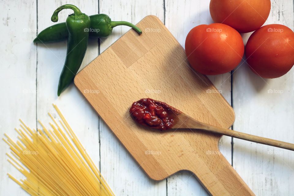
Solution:
{"label": "white plank second from left, beneath the crossed green peppers", "polygon": [[[68,1],[38,1],[38,30],[39,32],[53,23],[50,19],[52,13]],[[83,13],[93,15],[98,13],[98,1],[71,1]],[[89,6],[90,5],[90,6]],[[68,14],[73,13],[70,9],[62,10],[58,22],[65,22]],[[37,64],[37,115],[38,119],[47,127],[52,122],[47,112],[58,119],[52,103],[57,104],[65,116],[71,128],[85,147],[96,166],[100,166],[99,150],[99,116],[77,91],[73,84],[66,89],[60,97],[57,96],[59,75],[66,57],[67,41],[49,44],[38,44]],[[89,39],[88,48],[80,70],[98,56],[98,39]],[[38,128],[40,125],[38,124]],[[108,179],[106,179],[107,181]]]}

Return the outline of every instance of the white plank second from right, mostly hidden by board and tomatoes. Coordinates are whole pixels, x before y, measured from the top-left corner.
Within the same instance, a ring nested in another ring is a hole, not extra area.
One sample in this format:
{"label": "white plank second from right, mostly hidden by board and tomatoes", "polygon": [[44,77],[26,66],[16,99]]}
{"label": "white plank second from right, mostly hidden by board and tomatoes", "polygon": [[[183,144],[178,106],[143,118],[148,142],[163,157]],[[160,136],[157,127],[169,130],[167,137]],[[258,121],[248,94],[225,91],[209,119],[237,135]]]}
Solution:
{"label": "white plank second from right, mostly hidden by board and tomatoes", "polygon": [[[165,6],[165,26],[183,47],[185,47],[186,36],[192,28],[197,25],[213,23],[209,13],[209,1],[166,0]],[[230,75],[230,73],[226,73],[208,76],[228,103],[231,103]],[[223,136],[219,142],[219,148],[224,157],[231,163],[231,137]],[[168,194],[171,195],[207,195],[204,188],[186,171],[169,177],[167,187]]]}

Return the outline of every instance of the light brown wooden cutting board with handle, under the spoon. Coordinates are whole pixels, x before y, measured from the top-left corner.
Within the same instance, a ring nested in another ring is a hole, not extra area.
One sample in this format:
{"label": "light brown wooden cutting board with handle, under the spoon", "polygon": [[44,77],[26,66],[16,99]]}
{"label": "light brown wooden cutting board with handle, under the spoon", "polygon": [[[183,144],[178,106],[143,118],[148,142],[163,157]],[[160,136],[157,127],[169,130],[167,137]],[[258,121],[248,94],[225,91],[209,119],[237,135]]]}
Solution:
{"label": "light brown wooden cutting board with handle, under the spoon", "polygon": [[189,66],[183,47],[157,17],[147,16],[137,26],[142,35],[130,30],[113,43],[77,74],[77,88],[150,178],[189,170],[212,195],[254,195],[220,154],[221,135],[160,131],[131,118],[131,104],[149,97],[211,125],[228,128],[235,119],[232,107]]}

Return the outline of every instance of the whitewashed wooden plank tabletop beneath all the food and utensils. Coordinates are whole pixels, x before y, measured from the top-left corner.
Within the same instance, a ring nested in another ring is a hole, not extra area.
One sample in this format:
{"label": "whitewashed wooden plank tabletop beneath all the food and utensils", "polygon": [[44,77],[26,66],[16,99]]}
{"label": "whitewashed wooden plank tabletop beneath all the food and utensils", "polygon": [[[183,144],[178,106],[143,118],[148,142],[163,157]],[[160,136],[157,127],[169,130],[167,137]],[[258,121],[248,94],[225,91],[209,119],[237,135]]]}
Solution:
{"label": "whitewashed wooden plank tabletop beneath all the food and utensils", "polygon": [[[56,114],[51,105],[55,103],[116,195],[208,195],[188,171],[160,182],[149,179],[73,84],[57,96],[66,41],[42,45],[32,40],[53,24],[53,11],[66,3],[88,15],[105,13],[114,21],[133,24],[146,15],[156,15],[182,46],[191,28],[213,22],[208,0],[0,0],[1,136],[7,133],[16,139],[13,129],[19,127],[19,118],[31,128],[40,128],[36,120],[46,124],[47,112]],[[59,21],[65,21],[70,13],[62,11]],[[293,19],[292,0],[272,0],[266,24],[283,24],[293,30]],[[107,39],[90,39],[81,68],[129,29],[115,27]],[[242,35],[245,43],[250,34]],[[234,130],[294,143],[293,73],[294,69],[283,77],[266,80],[253,74],[242,61],[232,73],[209,78],[235,110]],[[6,160],[8,146],[4,141],[0,146],[0,195],[27,195],[6,175],[9,172],[23,178]],[[222,138],[220,149],[256,195],[294,194],[294,152],[230,137]]]}

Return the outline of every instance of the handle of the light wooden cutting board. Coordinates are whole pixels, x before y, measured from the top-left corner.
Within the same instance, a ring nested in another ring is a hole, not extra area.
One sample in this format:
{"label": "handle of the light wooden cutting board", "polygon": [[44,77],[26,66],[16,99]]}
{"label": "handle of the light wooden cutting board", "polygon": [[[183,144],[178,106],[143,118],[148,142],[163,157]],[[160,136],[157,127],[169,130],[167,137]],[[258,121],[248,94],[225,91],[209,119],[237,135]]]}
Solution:
{"label": "handle of the light wooden cutting board", "polygon": [[[189,170],[211,195],[255,195],[219,149],[207,151],[207,162]],[[217,164],[215,159],[217,158]],[[212,163],[212,164],[208,164]]]}

